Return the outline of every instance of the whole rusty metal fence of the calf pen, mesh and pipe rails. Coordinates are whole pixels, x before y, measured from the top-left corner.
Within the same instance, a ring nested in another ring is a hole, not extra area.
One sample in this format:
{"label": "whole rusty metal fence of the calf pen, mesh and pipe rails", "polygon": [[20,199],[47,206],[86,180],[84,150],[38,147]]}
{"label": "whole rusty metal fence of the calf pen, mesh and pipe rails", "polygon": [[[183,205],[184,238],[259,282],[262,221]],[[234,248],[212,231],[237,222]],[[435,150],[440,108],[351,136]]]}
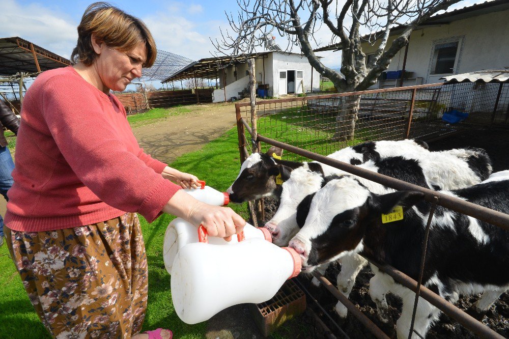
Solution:
{"label": "whole rusty metal fence of the calf pen, mesh and pipe rails", "polygon": [[[366,259],[416,293],[414,315],[420,296],[480,337],[501,338],[500,334],[421,286],[421,279],[425,267],[427,237],[436,205],[470,215],[506,230],[509,229],[509,215],[366,171],[323,155],[368,140],[398,140],[405,137],[431,140],[476,124],[507,125],[508,90],[508,84],[499,83],[482,86],[476,83],[431,84],[263,101],[256,107],[258,117],[254,121],[257,121],[257,135],[253,134],[253,126],[248,123],[251,121],[249,104],[239,103],[236,105],[236,114],[240,159],[243,162],[253,151],[260,151],[272,145],[290,152],[285,156],[287,159],[317,160],[394,189],[423,192],[425,199],[431,202],[433,207],[423,239],[419,277],[411,278],[389,265],[381,265],[372,258]],[[454,117],[455,112],[463,117],[465,114],[468,116],[458,123],[443,121],[444,114]],[[253,221],[256,221],[252,204],[250,207]],[[387,337],[369,318],[356,309],[352,302],[334,289],[325,277],[319,274],[316,276],[375,337]],[[413,321],[409,337],[412,331]]]}

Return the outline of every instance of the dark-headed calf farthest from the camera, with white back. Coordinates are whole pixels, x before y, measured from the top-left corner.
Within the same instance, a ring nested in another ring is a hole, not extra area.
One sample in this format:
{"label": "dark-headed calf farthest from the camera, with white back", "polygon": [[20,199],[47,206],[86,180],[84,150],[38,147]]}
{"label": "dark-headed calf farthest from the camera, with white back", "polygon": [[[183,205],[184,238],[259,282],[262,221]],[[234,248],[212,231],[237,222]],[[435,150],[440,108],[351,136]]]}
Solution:
{"label": "dark-headed calf farthest from the camera, with white back", "polygon": [[[347,147],[334,152],[328,157],[353,165],[358,165],[369,160],[387,158],[389,156],[408,156],[415,154],[429,154],[428,145],[418,140],[399,140],[379,142],[366,142],[353,147]],[[290,173],[295,168],[301,167],[303,162],[286,161],[274,158],[282,155],[282,150],[277,147],[271,147],[266,153],[253,153],[243,163],[239,175],[228,188],[230,201],[234,203],[243,203],[264,196],[279,198],[281,194],[280,185],[276,185],[276,177],[280,174],[281,179],[288,179]],[[323,164],[313,161],[308,163],[309,168],[319,172]],[[336,172],[333,167],[323,167],[322,172],[325,176]],[[490,171],[491,172],[491,171]],[[483,179],[481,179],[483,180]]]}

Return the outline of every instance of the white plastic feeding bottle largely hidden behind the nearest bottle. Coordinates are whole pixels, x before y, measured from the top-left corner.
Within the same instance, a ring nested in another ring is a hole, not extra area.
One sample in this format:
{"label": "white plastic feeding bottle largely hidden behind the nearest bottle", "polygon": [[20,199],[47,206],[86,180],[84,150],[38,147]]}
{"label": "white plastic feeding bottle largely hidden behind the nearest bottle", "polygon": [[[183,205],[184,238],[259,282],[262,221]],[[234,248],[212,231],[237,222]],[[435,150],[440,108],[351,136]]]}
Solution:
{"label": "white plastic feeding bottle largely hidden behind the nearest bottle", "polygon": [[[219,237],[208,237],[208,241],[214,245],[231,245],[239,242],[244,237],[245,239],[257,238],[272,242],[272,236],[266,228],[257,228],[246,223],[243,233],[243,235],[239,234],[237,237],[233,236],[231,241]],[[173,219],[169,223],[164,234],[162,252],[164,267],[166,267],[169,274],[172,274],[173,261],[177,252],[185,245],[194,242],[199,242],[198,232],[194,225],[182,218]]]}

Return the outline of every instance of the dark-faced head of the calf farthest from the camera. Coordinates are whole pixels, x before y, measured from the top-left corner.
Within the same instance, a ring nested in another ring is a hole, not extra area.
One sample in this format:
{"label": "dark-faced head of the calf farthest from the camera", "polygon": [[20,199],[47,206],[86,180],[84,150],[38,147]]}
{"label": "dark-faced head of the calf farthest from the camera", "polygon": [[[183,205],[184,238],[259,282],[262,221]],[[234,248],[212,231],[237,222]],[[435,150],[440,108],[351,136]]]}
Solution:
{"label": "dark-faced head of the calf farthest from the camera", "polygon": [[282,180],[287,179],[291,168],[278,164],[273,154],[280,157],[282,150],[271,147],[266,153],[251,154],[242,163],[237,179],[227,190],[231,202],[243,203],[274,195],[277,190],[276,176],[281,174]]}

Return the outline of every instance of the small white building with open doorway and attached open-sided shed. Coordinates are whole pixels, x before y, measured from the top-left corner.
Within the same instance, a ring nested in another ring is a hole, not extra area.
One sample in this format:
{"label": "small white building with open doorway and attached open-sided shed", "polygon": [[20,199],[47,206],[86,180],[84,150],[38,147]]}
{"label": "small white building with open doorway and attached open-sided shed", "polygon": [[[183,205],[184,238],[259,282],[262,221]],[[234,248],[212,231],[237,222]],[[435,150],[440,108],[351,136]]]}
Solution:
{"label": "small white building with open doorway and attached open-sided shed", "polygon": [[[279,97],[320,89],[320,74],[301,54],[274,50],[258,53],[254,57],[256,81],[258,85],[265,85],[262,88],[267,88],[266,96]],[[248,87],[248,65],[245,62],[230,64],[230,61],[228,57],[201,59],[163,82],[194,77],[214,81],[219,79],[219,88],[214,90],[213,101],[221,102],[232,98],[238,100]]]}

